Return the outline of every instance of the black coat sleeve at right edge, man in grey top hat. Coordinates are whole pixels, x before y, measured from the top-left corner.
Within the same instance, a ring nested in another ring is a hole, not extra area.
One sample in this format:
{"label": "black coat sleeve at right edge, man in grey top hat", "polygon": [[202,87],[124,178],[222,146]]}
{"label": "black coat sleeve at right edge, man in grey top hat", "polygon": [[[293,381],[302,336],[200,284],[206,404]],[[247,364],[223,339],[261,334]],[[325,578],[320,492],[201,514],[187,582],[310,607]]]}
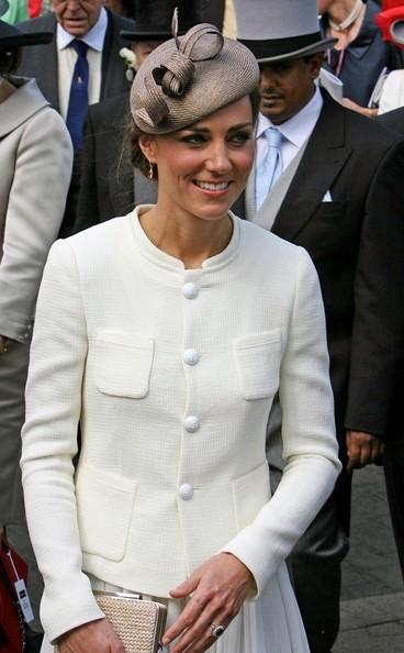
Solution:
{"label": "black coat sleeve at right edge, man in grey top hat", "polygon": [[355,280],[345,425],[379,438],[388,423],[404,354],[404,141],[380,163],[369,189]]}

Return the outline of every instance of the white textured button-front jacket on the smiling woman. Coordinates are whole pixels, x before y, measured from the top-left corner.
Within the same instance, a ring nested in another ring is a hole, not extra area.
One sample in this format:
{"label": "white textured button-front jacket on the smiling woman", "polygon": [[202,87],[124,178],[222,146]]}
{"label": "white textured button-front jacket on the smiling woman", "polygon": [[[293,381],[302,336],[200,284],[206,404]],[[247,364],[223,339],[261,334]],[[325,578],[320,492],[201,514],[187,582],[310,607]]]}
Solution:
{"label": "white textured button-front jacket on the smiling woman", "polygon": [[[259,595],[334,487],[316,273],[304,250],[233,221],[201,269],[156,248],[136,211],[50,251],[22,457],[50,640],[101,616],[83,571],[168,596],[225,550]],[[288,464],[270,499],[278,388]]]}

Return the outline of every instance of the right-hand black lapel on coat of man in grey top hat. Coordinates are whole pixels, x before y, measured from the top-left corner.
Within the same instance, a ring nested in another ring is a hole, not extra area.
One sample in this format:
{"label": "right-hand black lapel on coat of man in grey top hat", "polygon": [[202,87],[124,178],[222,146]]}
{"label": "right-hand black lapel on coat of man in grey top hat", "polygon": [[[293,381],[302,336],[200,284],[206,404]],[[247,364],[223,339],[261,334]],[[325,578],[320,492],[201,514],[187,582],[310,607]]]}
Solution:
{"label": "right-hand black lapel on coat of man in grey top hat", "polygon": [[291,242],[314,215],[351,154],[345,142],[345,110],[326,92],[323,98],[317,124],[272,228]]}

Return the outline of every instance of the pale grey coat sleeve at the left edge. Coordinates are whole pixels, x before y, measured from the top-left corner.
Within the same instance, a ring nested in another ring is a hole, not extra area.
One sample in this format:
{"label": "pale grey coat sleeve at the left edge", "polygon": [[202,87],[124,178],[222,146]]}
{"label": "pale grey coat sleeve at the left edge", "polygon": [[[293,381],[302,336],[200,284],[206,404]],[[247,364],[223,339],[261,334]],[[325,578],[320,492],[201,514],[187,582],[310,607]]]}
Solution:
{"label": "pale grey coat sleeve at the left edge", "polygon": [[0,333],[26,342],[48,250],[70,182],[72,147],[48,107],[27,121],[16,157],[0,263]]}

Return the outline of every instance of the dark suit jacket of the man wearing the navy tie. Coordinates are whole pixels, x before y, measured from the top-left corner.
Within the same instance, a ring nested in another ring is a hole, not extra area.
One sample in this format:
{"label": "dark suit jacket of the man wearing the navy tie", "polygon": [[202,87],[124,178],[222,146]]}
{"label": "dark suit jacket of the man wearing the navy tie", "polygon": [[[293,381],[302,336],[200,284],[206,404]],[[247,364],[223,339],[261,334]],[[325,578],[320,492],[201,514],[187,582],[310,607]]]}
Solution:
{"label": "dark suit jacket of the man wearing the navy tie", "polygon": [[[119,52],[127,43],[120,36],[120,30],[133,30],[134,21],[108,11],[108,27],[102,51],[101,64],[101,99],[111,98],[126,90],[125,63]],[[54,32],[56,19],[53,13],[33,19],[19,25],[25,32]],[[45,98],[58,111],[59,86],[57,75],[56,36],[47,45],[33,45],[22,48],[22,60],[19,75],[35,77]]]}

